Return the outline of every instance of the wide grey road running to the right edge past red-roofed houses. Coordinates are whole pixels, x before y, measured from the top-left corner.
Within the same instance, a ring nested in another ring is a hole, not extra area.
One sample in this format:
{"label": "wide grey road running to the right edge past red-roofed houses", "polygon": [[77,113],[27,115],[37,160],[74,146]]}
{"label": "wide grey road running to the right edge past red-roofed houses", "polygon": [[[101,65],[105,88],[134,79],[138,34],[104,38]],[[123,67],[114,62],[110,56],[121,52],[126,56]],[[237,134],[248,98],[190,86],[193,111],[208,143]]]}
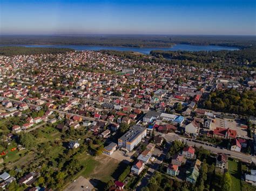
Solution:
{"label": "wide grey road running to the right edge past red-roofed houses", "polygon": [[251,162],[252,160],[256,160],[256,157],[253,157],[252,155],[244,154],[241,152],[229,151],[229,150],[221,149],[221,148],[215,148],[215,147],[207,146],[207,145],[200,144],[200,143],[195,143],[195,142],[187,140],[187,138],[185,138],[185,137],[178,136],[175,133],[162,134],[162,133],[158,132],[158,134],[161,134],[168,142],[173,142],[174,140],[180,139],[180,140],[183,140],[184,143],[187,143],[190,146],[194,146],[194,145],[196,145],[197,147],[202,146],[205,149],[207,149],[213,153],[228,154],[228,155],[230,155],[230,157],[240,159],[241,161],[244,161],[244,162]]}

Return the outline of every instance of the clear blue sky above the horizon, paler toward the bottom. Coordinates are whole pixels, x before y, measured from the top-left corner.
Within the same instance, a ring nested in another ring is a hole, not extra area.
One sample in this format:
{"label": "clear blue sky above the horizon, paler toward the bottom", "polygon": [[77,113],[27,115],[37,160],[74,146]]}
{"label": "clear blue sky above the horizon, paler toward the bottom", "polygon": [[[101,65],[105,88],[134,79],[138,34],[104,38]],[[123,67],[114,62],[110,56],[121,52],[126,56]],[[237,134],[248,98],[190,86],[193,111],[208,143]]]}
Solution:
{"label": "clear blue sky above the horizon, paler toward the bottom", "polygon": [[0,0],[0,34],[256,35],[255,0]]}

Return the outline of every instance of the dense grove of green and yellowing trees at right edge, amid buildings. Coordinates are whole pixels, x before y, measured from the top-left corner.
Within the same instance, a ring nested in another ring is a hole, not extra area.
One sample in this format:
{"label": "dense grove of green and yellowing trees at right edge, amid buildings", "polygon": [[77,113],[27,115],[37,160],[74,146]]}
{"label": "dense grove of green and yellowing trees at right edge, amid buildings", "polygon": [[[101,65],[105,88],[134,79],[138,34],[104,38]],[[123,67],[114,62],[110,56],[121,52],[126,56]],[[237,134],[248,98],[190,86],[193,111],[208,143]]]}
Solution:
{"label": "dense grove of green and yellowing trees at right edge, amid buildings", "polygon": [[256,117],[256,93],[235,89],[216,90],[203,103],[204,108],[238,115]]}

